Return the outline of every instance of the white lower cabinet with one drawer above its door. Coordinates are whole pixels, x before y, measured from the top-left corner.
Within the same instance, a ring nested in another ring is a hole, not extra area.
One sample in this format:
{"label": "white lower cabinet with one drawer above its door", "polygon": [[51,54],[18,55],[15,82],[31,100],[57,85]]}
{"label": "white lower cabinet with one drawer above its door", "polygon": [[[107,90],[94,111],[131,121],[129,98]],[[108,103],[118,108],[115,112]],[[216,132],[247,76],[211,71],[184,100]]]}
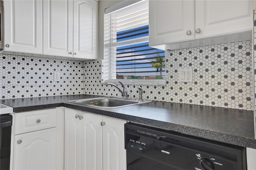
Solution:
{"label": "white lower cabinet with one drawer above its door", "polygon": [[10,170],[63,170],[64,107],[12,116]]}

